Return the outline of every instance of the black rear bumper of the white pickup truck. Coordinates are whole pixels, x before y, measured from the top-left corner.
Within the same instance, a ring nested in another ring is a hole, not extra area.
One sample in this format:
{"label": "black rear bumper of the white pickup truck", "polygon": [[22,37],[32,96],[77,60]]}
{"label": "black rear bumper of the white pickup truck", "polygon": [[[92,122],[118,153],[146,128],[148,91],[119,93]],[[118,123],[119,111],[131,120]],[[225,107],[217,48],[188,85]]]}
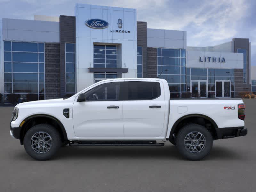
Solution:
{"label": "black rear bumper of the white pickup truck", "polygon": [[218,128],[216,131],[218,139],[228,139],[233,137],[245,136],[248,132],[248,130],[244,127]]}

